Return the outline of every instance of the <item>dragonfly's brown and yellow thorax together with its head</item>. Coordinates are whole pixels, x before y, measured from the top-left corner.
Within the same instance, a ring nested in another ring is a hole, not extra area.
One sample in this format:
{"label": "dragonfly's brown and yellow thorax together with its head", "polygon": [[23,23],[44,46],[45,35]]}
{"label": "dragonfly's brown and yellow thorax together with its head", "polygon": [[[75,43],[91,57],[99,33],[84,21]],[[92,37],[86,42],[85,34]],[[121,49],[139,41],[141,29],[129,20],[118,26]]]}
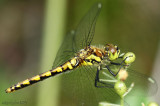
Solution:
{"label": "dragonfly's brown and yellow thorax together with its head", "polygon": [[104,58],[107,58],[109,61],[116,60],[119,54],[120,50],[116,45],[106,44],[103,47],[87,46],[81,49],[76,57],[83,60],[85,65],[93,65],[94,63],[101,63]]}

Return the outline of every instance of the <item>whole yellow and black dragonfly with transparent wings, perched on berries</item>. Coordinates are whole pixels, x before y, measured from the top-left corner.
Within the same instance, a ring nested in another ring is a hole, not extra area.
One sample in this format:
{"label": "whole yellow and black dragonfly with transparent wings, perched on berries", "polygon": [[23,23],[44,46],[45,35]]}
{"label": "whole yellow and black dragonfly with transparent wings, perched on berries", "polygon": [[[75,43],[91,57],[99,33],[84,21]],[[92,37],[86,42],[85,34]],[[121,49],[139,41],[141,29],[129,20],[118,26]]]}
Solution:
{"label": "whole yellow and black dragonfly with transparent wings, perched on berries", "polygon": [[[121,68],[134,62],[135,55],[121,54],[119,47],[113,44],[91,45],[101,7],[101,3],[96,3],[77,28],[66,35],[51,70],[7,88],[6,93],[12,93],[51,76],[59,76],[62,78],[60,98],[63,101],[60,106],[97,106],[100,101],[114,103],[118,100],[120,97],[113,89],[114,83],[106,83],[100,79],[116,79]],[[154,79],[149,81],[149,76],[130,69],[127,71],[127,85],[134,82],[143,91],[148,92],[147,87],[143,86],[146,83],[156,92]],[[107,73],[108,77],[104,76],[103,72]]]}

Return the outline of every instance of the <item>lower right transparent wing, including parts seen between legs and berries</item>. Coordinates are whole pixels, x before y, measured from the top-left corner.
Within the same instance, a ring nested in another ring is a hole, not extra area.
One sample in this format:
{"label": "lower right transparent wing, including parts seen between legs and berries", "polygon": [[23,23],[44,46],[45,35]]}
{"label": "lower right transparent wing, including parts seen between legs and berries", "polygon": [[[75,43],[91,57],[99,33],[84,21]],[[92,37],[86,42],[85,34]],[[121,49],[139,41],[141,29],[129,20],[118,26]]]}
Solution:
{"label": "lower right transparent wing, including parts seen between legs and berries", "polygon": [[[120,66],[110,65],[110,69],[114,71],[115,73],[118,72]],[[133,96],[151,96],[154,95],[157,90],[157,83],[154,80],[154,78],[144,75],[140,72],[137,72],[136,70],[132,70],[130,68],[125,69],[128,73],[127,79],[124,81],[127,87],[130,87],[131,84],[134,84],[134,87],[132,88],[129,95]],[[117,80],[118,77],[113,77],[111,73],[107,69],[103,70],[101,72],[102,79],[105,80]],[[124,74],[125,77],[126,74]]]}

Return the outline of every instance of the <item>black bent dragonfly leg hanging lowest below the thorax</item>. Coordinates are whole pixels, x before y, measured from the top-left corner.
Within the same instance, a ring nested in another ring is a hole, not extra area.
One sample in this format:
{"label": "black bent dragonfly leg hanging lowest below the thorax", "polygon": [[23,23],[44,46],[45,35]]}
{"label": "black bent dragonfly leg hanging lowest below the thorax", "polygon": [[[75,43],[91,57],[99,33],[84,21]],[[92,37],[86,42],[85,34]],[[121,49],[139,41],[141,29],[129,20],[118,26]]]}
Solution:
{"label": "black bent dragonfly leg hanging lowest below the thorax", "polygon": [[[99,80],[99,71],[100,70],[101,70],[101,66],[98,66],[97,73],[96,73],[96,78],[95,78],[95,87],[97,87],[97,88],[113,88],[114,87],[113,84],[109,84],[109,83],[106,83],[106,82],[103,82],[103,81]],[[97,83],[101,83],[104,86],[99,86]]]}

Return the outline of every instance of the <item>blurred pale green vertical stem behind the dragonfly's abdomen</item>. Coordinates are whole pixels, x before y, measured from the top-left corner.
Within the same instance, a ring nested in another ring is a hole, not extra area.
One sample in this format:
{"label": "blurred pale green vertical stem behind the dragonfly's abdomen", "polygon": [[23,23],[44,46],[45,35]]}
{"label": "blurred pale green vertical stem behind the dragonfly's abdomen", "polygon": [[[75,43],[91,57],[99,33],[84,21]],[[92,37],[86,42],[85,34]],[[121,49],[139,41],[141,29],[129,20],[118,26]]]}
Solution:
{"label": "blurred pale green vertical stem behind the dragonfly's abdomen", "polygon": [[[52,68],[54,58],[61,44],[62,35],[64,34],[66,2],[65,0],[47,0],[40,73]],[[37,106],[58,106],[59,82],[57,77],[41,82],[38,89]]]}

